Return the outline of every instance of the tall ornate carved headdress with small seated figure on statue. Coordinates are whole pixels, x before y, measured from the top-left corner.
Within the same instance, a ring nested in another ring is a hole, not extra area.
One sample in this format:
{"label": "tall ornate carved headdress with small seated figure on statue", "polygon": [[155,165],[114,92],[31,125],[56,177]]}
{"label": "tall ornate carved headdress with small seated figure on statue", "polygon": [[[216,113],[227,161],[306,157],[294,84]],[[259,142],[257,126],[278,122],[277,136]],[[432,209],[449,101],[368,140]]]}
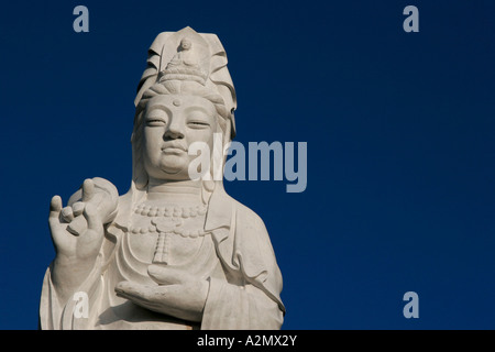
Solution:
{"label": "tall ornate carved headdress with small seated figure on statue", "polygon": [[189,26],[160,33],[148,50],[147,67],[134,100],[136,108],[146,91],[156,85],[158,90],[160,86],[183,86],[190,94],[207,91],[217,96],[215,102],[224,107],[224,118],[231,122],[231,139],[234,138],[235,90],[227,68],[226,51],[216,34],[197,33]]}

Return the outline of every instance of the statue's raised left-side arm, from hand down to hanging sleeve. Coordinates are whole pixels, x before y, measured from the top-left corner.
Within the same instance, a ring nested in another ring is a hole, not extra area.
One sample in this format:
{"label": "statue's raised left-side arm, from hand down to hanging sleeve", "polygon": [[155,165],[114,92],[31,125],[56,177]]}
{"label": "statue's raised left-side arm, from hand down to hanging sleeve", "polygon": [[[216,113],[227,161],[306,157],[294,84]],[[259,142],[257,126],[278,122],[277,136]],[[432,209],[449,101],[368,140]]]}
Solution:
{"label": "statue's raised left-side arm, from hand down to hanging sleeve", "polygon": [[[117,188],[98,177],[85,180],[65,208],[62,208],[61,197],[53,197],[48,223],[56,255],[43,283],[40,307],[42,328],[57,329],[57,321],[67,310],[67,302],[99,270],[98,253],[105,224],[114,219],[117,207]],[[46,307],[51,307],[50,314],[43,314]]]}

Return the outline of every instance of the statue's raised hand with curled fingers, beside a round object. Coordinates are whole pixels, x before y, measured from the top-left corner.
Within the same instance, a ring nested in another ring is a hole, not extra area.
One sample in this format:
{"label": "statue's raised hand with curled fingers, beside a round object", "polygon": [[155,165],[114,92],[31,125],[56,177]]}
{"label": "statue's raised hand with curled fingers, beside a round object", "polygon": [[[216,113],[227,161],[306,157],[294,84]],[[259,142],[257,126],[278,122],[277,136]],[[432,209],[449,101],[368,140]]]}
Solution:
{"label": "statue's raised hand with curled fingers, beside a round object", "polygon": [[117,188],[103,178],[86,179],[63,208],[55,196],[50,205],[50,231],[55,246],[55,284],[74,288],[95,264],[105,237],[103,226],[117,215]]}

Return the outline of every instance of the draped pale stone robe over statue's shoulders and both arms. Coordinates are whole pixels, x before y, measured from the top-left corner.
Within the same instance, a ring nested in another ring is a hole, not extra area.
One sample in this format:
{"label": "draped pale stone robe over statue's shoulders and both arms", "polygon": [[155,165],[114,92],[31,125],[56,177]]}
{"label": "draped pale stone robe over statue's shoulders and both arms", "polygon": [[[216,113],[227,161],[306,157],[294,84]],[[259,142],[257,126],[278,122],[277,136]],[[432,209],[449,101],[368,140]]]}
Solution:
{"label": "draped pale stone robe over statue's shoulders and both arms", "polygon": [[[95,266],[75,293],[87,296],[88,315],[77,315],[80,296],[61,301],[48,266],[40,304],[41,329],[279,329],[285,314],[282,274],[262,219],[216,187],[206,213],[197,253],[183,268],[209,282],[200,322],[158,314],[118,297],[116,285],[131,280],[157,285],[147,274],[150,261],[129,229],[132,190],[119,199],[117,218],[106,226]],[[138,243],[138,244],[136,244]]]}

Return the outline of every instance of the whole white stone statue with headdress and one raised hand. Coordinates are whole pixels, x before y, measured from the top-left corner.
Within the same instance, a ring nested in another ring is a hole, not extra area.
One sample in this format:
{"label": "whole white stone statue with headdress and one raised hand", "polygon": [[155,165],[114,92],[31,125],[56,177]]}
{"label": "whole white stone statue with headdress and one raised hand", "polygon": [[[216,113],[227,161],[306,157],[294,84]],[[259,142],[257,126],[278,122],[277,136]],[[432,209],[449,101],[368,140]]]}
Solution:
{"label": "whole white stone statue with headdress and one raised hand", "polygon": [[235,135],[217,35],[161,33],[135,106],[129,191],[96,177],[66,207],[52,199],[41,329],[279,329],[282,275],[263,221],[221,180],[189,177],[191,143]]}

